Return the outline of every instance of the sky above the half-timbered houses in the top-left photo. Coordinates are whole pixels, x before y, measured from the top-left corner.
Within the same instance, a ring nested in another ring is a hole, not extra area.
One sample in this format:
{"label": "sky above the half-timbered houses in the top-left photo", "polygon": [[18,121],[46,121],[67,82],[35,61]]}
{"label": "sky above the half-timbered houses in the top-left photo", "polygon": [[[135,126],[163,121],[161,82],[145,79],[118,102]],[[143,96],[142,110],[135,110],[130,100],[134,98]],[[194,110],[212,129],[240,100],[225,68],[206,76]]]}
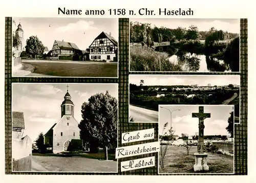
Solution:
{"label": "sky above the half-timbered houses in the top-left photo", "polygon": [[[20,22],[24,31],[24,41],[37,36],[48,50],[52,50],[54,40],[73,42],[80,50],[86,50],[102,32],[110,33],[118,41],[118,18],[30,18],[13,17],[17,29]],[[50,27],[49,27],[50,26]]]}

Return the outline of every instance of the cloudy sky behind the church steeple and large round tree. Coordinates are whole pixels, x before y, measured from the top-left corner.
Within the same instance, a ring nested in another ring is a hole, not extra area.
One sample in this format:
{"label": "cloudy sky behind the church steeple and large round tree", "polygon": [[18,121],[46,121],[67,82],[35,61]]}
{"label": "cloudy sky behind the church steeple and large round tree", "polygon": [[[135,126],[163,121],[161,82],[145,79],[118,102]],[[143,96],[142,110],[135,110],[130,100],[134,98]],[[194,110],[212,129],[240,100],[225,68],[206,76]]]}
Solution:
{"label": "cloudy sky behind the church steeple and large round tree", "polygon": [[[97,93],[109,94],[118,99],[117,84],[69,84],[74,103],[74,117],[80,123],[83,102]],[[35,141],[40,132],[46,133],[61,118],[60,105],[67,93],[67,83],[12,83],[12,111],[24,112],[25,135]]]}

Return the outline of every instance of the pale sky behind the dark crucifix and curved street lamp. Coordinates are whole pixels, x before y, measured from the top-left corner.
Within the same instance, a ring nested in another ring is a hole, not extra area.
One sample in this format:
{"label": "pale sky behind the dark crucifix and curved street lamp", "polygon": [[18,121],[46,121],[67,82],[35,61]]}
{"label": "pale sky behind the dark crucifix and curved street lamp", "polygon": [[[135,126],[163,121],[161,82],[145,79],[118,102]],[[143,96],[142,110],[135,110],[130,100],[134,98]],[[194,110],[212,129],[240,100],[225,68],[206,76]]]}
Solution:
{"label": "pale sky behind the dark crucifix and curved street lamp", "polygon": [[[195,135],[199,131],[198,118],[192,118],[193,112],[199,112],[199,105],[159,105],[159,134],[162,134],[163,125],[168,122],[166,129],[170,129],[170,112],[172,112],[172,127],[174,134],[181,136],[181,133]],[[200,105],[203,106],[203,105]],[[210,113],[210,118],[204,120],[204,135],[230,135],[226,127],[233,105],[205,105],[204,112]],[[165,132],[165,131],[164,131]]]}

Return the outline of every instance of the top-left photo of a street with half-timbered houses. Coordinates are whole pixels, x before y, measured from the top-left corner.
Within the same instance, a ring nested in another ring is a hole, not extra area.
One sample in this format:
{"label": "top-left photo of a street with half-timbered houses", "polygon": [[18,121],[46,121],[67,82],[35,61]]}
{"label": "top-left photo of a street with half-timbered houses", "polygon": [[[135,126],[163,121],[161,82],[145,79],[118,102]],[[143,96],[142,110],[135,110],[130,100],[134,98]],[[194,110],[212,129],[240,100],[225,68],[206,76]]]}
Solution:
{"label": "top-left photo of a street with half-timbered houses", "polygon": [[12,18],[13,77],[118,78],[118,18]]}

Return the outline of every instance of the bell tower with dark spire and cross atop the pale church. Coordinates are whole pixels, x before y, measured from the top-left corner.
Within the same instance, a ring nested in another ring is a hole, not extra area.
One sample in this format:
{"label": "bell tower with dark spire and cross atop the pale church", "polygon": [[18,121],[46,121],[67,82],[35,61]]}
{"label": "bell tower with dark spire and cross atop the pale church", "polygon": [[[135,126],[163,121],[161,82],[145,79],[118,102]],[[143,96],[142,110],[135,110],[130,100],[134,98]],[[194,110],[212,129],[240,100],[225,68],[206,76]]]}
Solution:
{"label": "bell tower with dark spire and cross atop the pale church", "polygon": [[67,93],[64,96],[64,101],[61,103],[61,118],[63,115],[71,115],[74,117],[74,103],[71,101],[69,94],[69,85],[67,85]]}

